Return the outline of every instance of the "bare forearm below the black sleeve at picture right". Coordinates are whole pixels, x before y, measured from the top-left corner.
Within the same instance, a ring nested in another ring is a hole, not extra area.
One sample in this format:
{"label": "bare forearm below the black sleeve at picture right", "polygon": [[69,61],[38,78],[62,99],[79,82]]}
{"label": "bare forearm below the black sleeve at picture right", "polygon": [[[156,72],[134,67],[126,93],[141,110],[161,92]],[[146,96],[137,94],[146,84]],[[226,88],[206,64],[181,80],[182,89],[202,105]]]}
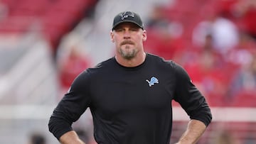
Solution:
{"label": "bare forearm below the black sleeve at picture right", "polygon": [[198,120],[192,119],[188,123],[188,128],[176,144],[195,144],[206,130],[206,125]]}

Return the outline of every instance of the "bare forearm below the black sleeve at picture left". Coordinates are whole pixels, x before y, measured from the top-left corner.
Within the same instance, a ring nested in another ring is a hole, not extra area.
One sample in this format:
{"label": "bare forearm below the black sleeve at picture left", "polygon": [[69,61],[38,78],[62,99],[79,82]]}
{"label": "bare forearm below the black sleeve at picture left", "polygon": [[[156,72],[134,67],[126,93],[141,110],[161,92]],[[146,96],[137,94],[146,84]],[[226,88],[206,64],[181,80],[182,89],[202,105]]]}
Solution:
{"label": "bare forearm below the black sleeve at picture left", "polygon": [[60,136],[60,143],[61,144],[85,144],[80,140],[78,134],[75,131],[68,131]]}

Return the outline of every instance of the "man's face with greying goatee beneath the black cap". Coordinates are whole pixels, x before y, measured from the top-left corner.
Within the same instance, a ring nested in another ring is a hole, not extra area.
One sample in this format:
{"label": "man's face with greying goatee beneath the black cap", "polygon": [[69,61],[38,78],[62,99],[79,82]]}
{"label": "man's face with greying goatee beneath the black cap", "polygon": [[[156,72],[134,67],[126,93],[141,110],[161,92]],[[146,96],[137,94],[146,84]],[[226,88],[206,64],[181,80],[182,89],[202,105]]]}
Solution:
{"label": "man's face with greying goatee beneath the black cap", "polygon": [[146,40],[146,31],[134,23],[121,23],[110,33],[115,43],[117,55],[131,60],[137,52],[143,50],[143,41]]}

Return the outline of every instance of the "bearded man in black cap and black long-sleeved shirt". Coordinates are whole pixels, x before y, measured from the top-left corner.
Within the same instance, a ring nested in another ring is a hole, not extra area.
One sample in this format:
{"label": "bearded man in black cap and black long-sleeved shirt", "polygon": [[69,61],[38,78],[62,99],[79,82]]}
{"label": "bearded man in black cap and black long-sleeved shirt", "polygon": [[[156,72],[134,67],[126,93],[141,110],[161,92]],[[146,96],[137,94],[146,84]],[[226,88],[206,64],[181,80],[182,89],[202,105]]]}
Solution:
{"label": "bearded man in black cap and black long-sleeved shirt", "polygon": [[146,31],[137,13],[115,16],[110,37],[115,56],[74,80],[50,117],[50,132],[60,143],[83,143],[71,125],[89,107],[97,143],[169,144],[175,100],[191,118],[178,144],[196,143],[212,117],[185,70],[144,52]]}

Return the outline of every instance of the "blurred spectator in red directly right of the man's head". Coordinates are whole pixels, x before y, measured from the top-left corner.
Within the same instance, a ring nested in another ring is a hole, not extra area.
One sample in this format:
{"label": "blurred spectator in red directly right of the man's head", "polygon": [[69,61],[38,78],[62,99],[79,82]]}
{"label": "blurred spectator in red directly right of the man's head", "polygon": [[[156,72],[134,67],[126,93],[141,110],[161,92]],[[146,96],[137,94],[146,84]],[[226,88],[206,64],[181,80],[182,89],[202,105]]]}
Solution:
{"label": "blurred spectator in red directly right of the man's head", "polygon": [[157,4],[153,6],[146,22],[146,31],[148,40],[144,45],[147,52],[171,60],[176,52],[183,50],[181,23],[166,18],[164,6]]}

